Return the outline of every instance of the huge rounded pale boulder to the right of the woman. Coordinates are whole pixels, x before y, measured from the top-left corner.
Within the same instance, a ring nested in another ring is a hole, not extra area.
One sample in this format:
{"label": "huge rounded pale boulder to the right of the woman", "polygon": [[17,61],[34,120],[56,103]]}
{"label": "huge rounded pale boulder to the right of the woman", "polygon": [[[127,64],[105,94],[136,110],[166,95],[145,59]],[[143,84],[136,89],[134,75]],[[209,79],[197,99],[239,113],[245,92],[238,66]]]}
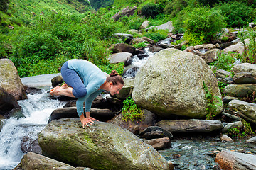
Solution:
{"label": "huge rounded pale boulder to the right of the woman", "polygon": [[208,101],[203,83],[213,94],[219,114],[223,111],[220,89],[206,62],[190,52],[161,50],[137,72],[132,98],[138,106],[164,118],[204,118]]}

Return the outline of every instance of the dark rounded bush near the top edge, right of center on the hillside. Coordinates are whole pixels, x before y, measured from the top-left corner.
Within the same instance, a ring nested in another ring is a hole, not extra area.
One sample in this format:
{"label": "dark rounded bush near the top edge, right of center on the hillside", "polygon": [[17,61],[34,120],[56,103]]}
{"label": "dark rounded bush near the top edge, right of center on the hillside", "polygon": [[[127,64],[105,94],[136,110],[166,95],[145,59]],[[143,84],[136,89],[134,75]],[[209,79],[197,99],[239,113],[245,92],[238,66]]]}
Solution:
{"label": "dark rounded bush near the top edge, right of center on the hillside", "polygon": [[142,6],[142,15],[144,15],[146,18],[156,18],[159,13],[161,13],[161,9],[159,8],[158,4],[149,3]]}

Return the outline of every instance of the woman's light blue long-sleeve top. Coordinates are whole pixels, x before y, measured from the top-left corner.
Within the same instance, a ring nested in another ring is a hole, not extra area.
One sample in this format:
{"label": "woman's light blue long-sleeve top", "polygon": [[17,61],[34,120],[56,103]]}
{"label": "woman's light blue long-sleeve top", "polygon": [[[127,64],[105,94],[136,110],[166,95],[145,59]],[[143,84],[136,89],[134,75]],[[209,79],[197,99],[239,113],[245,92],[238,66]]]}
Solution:
{"label": "woman's light blue long-sleeve top", "polygon": [[78,98],[76,101],[77,112],[80,117],[83,111],[83,103],[85,102],[85,112],[90,112],[92,101],[104,90],[99,90],[100,86],[105,82],[107,73],[102,72],[95,64],[86,60],[72,59],[68,60],[68,68],[73,69],[82,79],[87,89],[86,96]]}

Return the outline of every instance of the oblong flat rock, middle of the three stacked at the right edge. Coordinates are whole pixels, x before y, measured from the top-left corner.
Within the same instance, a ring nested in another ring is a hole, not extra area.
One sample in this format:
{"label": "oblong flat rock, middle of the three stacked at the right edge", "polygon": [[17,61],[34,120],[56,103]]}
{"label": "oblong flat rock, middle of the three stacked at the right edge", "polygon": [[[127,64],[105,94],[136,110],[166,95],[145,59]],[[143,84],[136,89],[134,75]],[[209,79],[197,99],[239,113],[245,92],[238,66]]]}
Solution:
{"label": "oblong flat rock, middle of the three stacked at the right edge", "polygon": [[235,97],[256,96],[256,84],[229,84],[223,89],[223,94]]}

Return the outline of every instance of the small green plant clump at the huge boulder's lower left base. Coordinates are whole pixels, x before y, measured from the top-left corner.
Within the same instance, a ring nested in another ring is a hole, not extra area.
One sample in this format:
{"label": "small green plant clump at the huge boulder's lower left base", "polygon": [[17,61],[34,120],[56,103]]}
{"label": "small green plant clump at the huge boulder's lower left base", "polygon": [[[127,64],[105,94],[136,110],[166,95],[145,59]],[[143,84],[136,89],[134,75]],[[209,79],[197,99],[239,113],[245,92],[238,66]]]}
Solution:
{"label": "small green plant clump at the huge boulder's lower left base", "polygon": [[137,105],[132,100],[132,97],[126,98],[124,100],[124,107],[122,108],[122,118],[123,120],[142,120],[144,113],[142,108],[138,108]]}

